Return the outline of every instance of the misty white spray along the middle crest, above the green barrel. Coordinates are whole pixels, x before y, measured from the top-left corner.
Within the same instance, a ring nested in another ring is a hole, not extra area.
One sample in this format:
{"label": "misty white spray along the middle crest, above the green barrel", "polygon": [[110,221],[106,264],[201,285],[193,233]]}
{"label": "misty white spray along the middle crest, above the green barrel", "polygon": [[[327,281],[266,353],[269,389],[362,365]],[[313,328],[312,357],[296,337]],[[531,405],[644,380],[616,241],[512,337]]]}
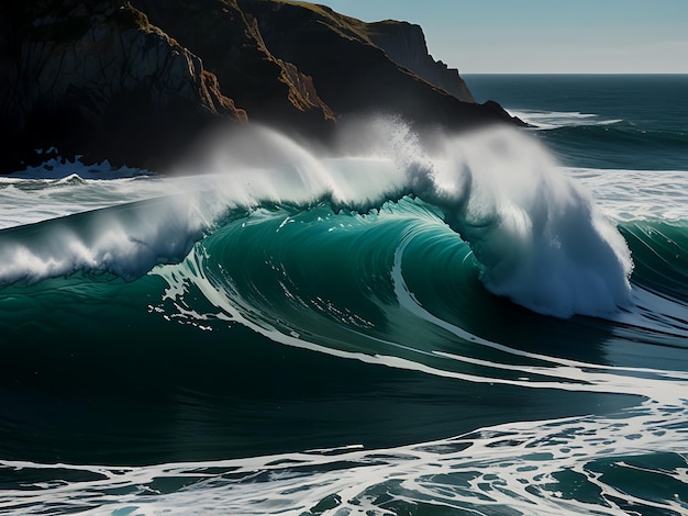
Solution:
{"label": "misty white spray along the middle crest, above the green barrel", "polygon": [[368,150],[321,155],[262,126],[218,135],[178,170],[190,172],[202,172],[209,190],[254,206],[266,202],[309,206],[326,200],[365,213],[411,193],[403,165],[388,156]]}

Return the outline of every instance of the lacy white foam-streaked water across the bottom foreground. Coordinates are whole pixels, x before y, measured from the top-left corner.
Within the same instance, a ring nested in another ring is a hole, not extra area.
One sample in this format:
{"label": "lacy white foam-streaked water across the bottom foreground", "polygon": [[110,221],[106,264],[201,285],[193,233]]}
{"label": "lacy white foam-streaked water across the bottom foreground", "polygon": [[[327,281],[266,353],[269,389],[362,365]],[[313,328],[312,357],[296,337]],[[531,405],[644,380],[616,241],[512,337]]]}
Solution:
{"label": "lacy white foam-streaked water across the bottom foreground", "polygon": [[[0,461],[0,471],[80,478],[24,484],[5,492],[0,508],[3,514],[31,506],[93,515],[393,515],[445,507],[484,515],[623,515],[632,507],[684,514],[687,449],[679,444],[687,415],[685,403],[646,403],[618,417],[511,423],[385,450],[349,446],[141,468]],[[655,468],[666,489],[648,492],[624,480],[644,468]],[[576,485],[584,484],[578,493]]]}

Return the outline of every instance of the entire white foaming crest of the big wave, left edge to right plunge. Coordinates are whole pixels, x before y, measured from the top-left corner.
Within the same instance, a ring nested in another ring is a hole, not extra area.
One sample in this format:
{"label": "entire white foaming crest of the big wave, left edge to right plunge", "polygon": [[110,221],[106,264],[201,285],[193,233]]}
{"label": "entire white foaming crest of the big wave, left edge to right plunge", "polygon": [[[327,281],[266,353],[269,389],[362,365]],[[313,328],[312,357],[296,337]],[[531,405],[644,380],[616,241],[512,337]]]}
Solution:
{"label": "entire white foaming crest of the big wave, left edge to right plunge", "polygon": [[367,213],[412,195],[442,212],[468,243],[495,294],[561,317],[612,313],[629,303],[632,262],[623,238],[532,138],[492,130],[447,137],[430,154],[398,123],[377,121],[362,134],[376,145],[368,156],[377,157],[323,160],[262,130],[252,138],[255,152],[278,168],[247,168],[235,157],[246,144],[229,144],[199,165],[211,173],[196,179],[195,192],[5,231],[0,280],[77,270],[132,279],[181,260],[222,216],[270,203],[308,210],[328,202],[335,211]]}

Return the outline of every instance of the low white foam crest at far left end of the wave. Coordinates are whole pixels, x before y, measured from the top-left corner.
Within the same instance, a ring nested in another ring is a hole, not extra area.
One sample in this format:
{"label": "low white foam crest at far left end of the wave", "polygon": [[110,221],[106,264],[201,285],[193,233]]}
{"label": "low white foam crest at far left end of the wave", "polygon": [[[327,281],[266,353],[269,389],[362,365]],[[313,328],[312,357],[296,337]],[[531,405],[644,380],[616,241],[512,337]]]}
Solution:
{"label": "low white foam crest at far left end of the wave", "polygon": [[135,279],[156,263],[181,259],[202,236],[202,217],[176,203],[100,211],[75,223],[0,236],[0,283],[36,282],[77,271]]}

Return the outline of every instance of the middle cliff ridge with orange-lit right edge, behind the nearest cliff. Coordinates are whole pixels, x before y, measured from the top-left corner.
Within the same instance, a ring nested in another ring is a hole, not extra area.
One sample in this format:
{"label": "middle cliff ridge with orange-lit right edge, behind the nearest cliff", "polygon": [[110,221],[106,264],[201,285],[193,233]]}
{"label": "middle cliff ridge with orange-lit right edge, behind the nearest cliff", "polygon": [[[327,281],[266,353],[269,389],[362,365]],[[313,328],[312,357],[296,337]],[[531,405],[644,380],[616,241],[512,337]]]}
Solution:
{"label": "middle cliff ridge with orange-lit right edge, behind the nearest cliff", "polygon": [[222,91],[252,120],[271,125],[289,119],[296,125],[334,121],[318,97],[312,79],[276,58],[254,19],[236,0],[133,0],[151,22],[189,51],[218,76]]}

